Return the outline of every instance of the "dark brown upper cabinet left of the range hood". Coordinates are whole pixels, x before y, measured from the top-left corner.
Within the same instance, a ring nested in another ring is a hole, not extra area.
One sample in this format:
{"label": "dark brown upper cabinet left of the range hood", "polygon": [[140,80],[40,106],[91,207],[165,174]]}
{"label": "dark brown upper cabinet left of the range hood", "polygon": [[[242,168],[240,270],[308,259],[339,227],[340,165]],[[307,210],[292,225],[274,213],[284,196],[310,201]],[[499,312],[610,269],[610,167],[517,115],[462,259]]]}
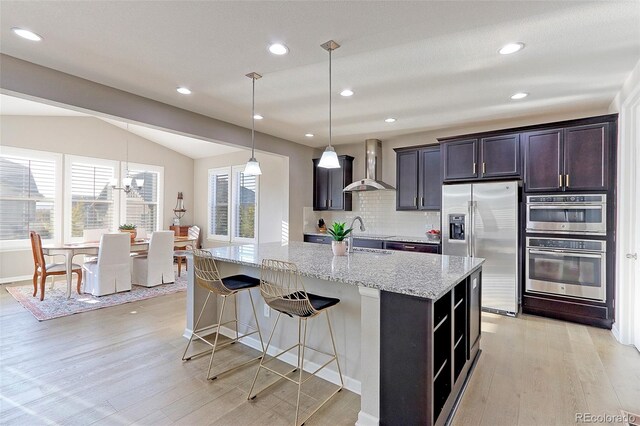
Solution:
{"label": "dark brown upper cabinet left of the range hood", "polygon": [[339,169],[318,167],[319,158],[313,160],[313,209],[351,211],[351,193],[342,192],[353,181],[353,157],[338,156]]}

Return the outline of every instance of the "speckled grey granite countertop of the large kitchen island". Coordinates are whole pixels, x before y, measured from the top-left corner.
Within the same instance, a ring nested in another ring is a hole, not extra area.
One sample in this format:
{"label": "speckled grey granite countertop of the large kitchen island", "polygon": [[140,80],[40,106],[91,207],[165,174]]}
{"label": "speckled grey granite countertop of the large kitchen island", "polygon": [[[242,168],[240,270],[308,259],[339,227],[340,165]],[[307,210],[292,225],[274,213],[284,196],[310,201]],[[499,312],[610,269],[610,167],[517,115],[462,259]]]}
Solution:
{"label": "speckled grey granite countertop of the large kitchen island", "polygon": [[295,263],[306,277],[438,299],[484,259],[390,250],[356,249],[333,256],[323,244],[290,242],[225,246],[208,249],[218,260],[259,267],[262,259]]}

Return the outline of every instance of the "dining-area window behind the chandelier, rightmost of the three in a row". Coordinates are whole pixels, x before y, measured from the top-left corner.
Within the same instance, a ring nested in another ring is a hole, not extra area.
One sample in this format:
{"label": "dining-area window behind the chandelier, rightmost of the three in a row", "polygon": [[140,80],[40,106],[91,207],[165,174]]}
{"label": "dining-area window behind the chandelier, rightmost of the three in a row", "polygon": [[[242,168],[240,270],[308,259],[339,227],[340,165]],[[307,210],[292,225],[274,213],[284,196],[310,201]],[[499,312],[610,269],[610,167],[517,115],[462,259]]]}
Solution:
{"label": "dining-area window behind the chandelier, rightmost of the three in a row", "polygon": [[[122,167],[122,176],[126,176],[126,167]],[[144,184],[141,189],[124,194],[124,223],[133,223],[138,229],[144,229],[147,234],[161,228],[160,183],[163,181],[163,171],[162,167],[129,164],[129,177],[133,178],[133,182],[136,179],[144,179]]]}

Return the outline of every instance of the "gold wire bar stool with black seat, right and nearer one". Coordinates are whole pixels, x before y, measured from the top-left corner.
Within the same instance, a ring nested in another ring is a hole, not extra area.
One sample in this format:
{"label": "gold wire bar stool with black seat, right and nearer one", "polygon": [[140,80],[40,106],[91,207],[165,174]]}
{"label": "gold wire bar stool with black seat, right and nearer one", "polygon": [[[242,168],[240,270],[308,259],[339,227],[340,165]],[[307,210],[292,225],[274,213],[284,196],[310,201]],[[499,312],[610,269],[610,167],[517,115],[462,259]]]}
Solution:
{"label": "gold wire bar stool with black seat, right and nearer one", "polygon": [[[273,325],[273,330],[271,331],[271,335],[269,336],[269,340],[267,341],[267,347],[265,348],[262,359],[260,360],[260,365],[258,366],[258,371],[256,371],[256,375],[253,379],[253,383],[251,384],[251,389],[249,390],[249,396],[247,399],[254,399],[260,392],[266,390],[267,388],[275,385],[282,379],[289,380],[298,385],[298,399],[296,402],[296,419],[295,424],[298,425],[298,416],[300,412],[300,390],[302,388],[302,384],[305,383],[310,378],[314,377],[320,370],[329,365],[332,361],[336,362],[336,366],[338,367],[338,374],[340,376],[340,386],[337,390],[335,390],[327,399],[325,399],[306,419],[304,419],[300,424],[306,422],[313,414],[316,413],[324,404],[326,404],[335,394],[340,392],[344,387],[344,381],[342,380],[342,371],[340,370],[340,362],[338,361],[338,354],[336,351],[336,343],[333,338],[333,329],[331,327],[331,320],[329,319],[328,309],[334,305],[337,305],[340,302],[340,299],[334,299],[332,297],[324,297],[318,296],[315,294],[307,293],[304,284],[302,282],[302,277],[300,276],[300,272],[298,271],[297,266],[294,263],[283,262],[280,260],[273,259],[264,259],[262,261],[262,268],[260,271],[260,293],[264,298],[265,302],[274,310],[278,312],[278,316],[276,317],[276,321]],[[307,320],[309,318],[314,318],[321,313],[326,314],[327,324],[329,326],[329,335],[331,336],[331,345],[333,346],[333,353],[327,353],[320,351],[318,349],[307,346]],[[289,317],[297,317],[298,318],[298,343],[291,346],[290,348],[281,351],[278,355],[266,359],[267,351],[269,350],[269,345],[271,344],[271,339],[273,338],[273,334],[278,326],[278,321],[280,320],[280,316],[282,314],[288,315]],[[304,331],[302,324],[304,323]],[[277,359],[278,357],[284,355],[285,353],[291,351],[292,349],[298,349],[298,365],[293,370],[281,374],[269,367],[265,364],[268,362]],[[317,368],[313,373],[310,373],[310,376],[306,379],[302,379],[302,372],[304,371],[304,354],[305,349],[310,349],[312,351],[322,353],[331,357],[327,362],[325,362],[322,366]],[[258,380],[258,375],[260,374],[261,369],[268,370],[278,376],[275,382],[266,386],[259,392],[256,392],[255,395],[251,395],[253,392],[253,388],[255,387],[256,381]],[[288,377],[289,374],[299,371],[298,380],[294,380]]]}

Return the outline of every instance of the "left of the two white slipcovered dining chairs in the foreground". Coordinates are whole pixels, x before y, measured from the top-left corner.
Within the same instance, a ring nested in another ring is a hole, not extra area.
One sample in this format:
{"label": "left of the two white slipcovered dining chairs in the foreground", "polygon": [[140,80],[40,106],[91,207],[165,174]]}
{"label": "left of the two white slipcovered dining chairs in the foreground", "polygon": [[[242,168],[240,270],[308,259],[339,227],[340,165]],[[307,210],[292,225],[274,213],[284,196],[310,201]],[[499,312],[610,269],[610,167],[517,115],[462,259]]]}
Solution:
{"label": "left of the two white slipcovered dining chairs in the foreground", "polygon": [[131,290],[130,249],[129,234],[102,235],[97,260],[82,265],[85,271],[84,292],[105,296]]}

